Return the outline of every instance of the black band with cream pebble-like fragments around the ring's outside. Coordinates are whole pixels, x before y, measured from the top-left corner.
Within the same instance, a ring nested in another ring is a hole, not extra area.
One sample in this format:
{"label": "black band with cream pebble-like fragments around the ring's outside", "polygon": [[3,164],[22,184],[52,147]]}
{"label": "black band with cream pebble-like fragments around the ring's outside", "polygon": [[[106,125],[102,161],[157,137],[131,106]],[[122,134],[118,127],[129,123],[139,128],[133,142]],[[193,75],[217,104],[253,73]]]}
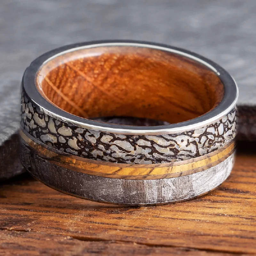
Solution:
{"label": "black band with cream pebble-like fragments around the ring's outside", "polygon": [[213,152],[236,136],[236,109],[205,127],[175,134],[99,132],[48,116],[23,95],[21,127],[32,137],[69,154],[127,164],[160,164]]}

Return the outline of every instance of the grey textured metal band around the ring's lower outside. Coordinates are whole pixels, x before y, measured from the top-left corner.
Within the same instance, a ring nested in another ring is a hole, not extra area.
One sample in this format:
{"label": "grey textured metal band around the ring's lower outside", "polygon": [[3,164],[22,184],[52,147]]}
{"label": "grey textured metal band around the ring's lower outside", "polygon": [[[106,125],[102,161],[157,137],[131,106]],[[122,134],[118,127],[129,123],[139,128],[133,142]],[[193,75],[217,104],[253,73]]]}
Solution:
{"label": "grey textured metal band around the ring's lower outside", "polygon": [[175,178],[128,180],[106,178],[69,170],[37,155],[21,144],[21,162],[38,180],[72,196],[92,201],[156,205],[183,201],[204,194],[220,185],[229,176],[234,154],[205,171]]}

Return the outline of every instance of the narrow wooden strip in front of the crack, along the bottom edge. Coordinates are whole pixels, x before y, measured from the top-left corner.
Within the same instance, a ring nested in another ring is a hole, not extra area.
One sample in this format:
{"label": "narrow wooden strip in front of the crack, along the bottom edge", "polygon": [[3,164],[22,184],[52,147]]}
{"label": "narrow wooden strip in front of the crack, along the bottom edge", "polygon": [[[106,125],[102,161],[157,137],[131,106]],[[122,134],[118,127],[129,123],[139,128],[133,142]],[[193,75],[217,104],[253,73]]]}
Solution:
{"label": "narrow wooden strip in front of the crack, along the bottom edge", "polygon": [[148,246],[116,241],[81,241],[70,236],[35,232],[0,231],[0,256],[12,255],[191,255],[229,256],[231,253],[206,252],[181,247]]}

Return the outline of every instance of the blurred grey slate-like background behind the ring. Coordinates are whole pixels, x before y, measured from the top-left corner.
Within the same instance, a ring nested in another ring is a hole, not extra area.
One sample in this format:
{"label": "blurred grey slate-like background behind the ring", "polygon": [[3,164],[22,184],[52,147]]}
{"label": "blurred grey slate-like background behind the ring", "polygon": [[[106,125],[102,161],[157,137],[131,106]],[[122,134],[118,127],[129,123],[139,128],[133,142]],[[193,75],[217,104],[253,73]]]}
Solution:
{"label": "blurred grey slate-like background behind the ring", "polygon": [[29,63],[61,45],[148,40],[187,48],[235,77],[239,104],[256,103],[255,0],[1,0],[0,145],[19,127],[19,88]]}

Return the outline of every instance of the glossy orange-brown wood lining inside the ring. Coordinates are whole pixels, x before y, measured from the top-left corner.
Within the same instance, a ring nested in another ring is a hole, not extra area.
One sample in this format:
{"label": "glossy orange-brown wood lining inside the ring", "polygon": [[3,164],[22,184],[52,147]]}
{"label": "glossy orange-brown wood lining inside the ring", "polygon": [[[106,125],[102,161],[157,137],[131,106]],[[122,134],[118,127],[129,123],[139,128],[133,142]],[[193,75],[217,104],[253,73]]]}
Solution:
{"label": "glossy orange-brown wood lining inside the ring", "polygon": [[127,116],[180,123],[201,116],[224,95],[208,67],[148,47],[100,46],[46,61],[36,75],[42,96],[87,119]]}

